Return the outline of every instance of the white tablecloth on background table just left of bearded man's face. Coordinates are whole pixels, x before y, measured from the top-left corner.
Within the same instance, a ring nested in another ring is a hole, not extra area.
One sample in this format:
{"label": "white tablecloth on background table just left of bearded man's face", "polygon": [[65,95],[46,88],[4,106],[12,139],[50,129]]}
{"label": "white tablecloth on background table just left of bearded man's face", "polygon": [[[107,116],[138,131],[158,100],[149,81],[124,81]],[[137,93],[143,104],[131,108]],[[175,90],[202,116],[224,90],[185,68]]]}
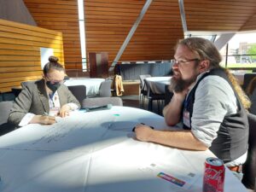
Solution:
{"label": "white tablecloth on background table just left of bearded man's face", "polygon": [[172,77],[150,77],[146,80],[149,83],[150,89],[153,93],[165,93],[166,84],[170,84],[170,80]]}

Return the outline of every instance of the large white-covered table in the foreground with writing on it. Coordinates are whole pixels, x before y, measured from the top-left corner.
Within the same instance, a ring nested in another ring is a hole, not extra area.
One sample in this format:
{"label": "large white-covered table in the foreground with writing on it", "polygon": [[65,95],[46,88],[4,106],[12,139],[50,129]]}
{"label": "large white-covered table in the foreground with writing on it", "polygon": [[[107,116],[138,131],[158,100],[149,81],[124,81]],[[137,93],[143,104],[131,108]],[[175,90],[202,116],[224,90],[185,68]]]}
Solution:
{"label": "large white-covered table in the foreground with writing on it", "polygon": [[[10,132],[0,137],[0,191],[201,191],[204,161],[212,153],[139,142],[131,131],[137,123],[171,129],[155,113],[113,107]],[[186,183],[179,187],[160,172]],[[247,189],[227,170],[224,191]]]}

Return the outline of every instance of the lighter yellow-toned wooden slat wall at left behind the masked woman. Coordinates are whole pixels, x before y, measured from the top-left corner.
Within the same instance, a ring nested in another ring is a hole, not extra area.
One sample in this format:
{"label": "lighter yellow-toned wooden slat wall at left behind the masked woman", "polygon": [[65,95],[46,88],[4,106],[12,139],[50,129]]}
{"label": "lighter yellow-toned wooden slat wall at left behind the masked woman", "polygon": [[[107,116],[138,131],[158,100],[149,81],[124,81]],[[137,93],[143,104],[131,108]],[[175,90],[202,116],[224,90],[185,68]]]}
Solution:
{"label": "lighter yellow-toned wooden slat wall at left behind the masked woman", "polygon": [[0,20],[0,92],[42,78],[40,47],[54,49],[64,64],[61,32]]}

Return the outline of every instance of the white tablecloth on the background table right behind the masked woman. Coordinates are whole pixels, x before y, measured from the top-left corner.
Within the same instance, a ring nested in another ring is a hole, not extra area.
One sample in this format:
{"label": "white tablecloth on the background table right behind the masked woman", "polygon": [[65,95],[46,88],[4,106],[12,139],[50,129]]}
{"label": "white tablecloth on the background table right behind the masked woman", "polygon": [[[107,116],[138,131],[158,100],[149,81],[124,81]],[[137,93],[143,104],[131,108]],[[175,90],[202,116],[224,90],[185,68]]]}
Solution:
{"label": "white tablecloth on the background table right behind the masked woman", "polygon": [[65,81],[67,86],[85,85],[86,96],[96,96],[99,93],[100,85],[105,79],[71,78]]}

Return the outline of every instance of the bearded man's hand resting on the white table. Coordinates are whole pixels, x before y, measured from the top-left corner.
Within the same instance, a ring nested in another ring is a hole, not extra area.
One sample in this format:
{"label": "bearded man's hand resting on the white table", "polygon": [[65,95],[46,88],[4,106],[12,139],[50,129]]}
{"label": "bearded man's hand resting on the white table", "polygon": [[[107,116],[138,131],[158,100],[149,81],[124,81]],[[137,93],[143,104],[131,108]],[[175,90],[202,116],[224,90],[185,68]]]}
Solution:
{"label": "bearded man's hand resting on the white table", "polygon": [[149,127],[148,125],[136,125],[135,127],[135,136],[137,140],[140,140],[142,142],[149,142],[150,137],[153,134],[153,129]]}

